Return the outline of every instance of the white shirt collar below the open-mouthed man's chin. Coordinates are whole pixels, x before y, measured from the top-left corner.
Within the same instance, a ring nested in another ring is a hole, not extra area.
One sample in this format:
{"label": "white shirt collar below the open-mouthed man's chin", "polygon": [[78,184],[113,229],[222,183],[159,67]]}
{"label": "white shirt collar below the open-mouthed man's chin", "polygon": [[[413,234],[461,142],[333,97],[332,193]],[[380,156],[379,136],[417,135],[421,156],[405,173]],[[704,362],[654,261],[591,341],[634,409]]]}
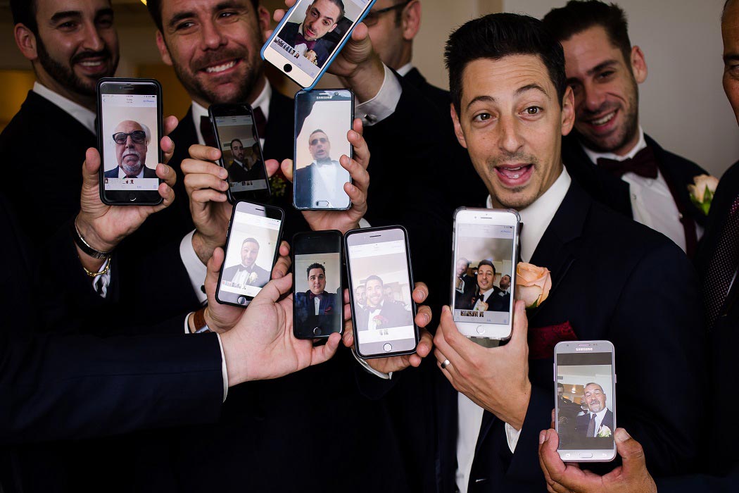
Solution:
{"label": "white shirt collar below the open-mouthed man's chin", "polygon": [[[570,174],[568,174],[567,169],[562,167],[562,173],[552,183],[552,186],[541,197],[534,200],[534,203],[518,211],[521,222],[523,223],[523,227],[521,228],[520,251],[523,262],[531,261],[531,256],[534,255],[539,241],[544,236],[544,232],[547,231],[549,223],[554,218],[557,209],[559,209],[559,204],[562,203],[562,200],[565,200],[565,195],[571,183]],[[488,208],[492,208],[493,206],[492,199],[489,195],[487,206]]]}

